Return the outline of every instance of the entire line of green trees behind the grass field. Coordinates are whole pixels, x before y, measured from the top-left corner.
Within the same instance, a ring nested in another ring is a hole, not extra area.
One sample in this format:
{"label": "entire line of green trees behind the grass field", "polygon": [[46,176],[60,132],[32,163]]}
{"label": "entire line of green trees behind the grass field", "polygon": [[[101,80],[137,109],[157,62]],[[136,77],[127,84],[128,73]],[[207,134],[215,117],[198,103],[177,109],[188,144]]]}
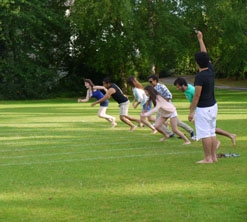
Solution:
{"label": "entire line of green trees behind the grass field", "polygon": [[217,77],[247,77],[246,0],[65,1],[0,2],[0,99],[78,94],[84,77],[195,74],[193,27]]}

